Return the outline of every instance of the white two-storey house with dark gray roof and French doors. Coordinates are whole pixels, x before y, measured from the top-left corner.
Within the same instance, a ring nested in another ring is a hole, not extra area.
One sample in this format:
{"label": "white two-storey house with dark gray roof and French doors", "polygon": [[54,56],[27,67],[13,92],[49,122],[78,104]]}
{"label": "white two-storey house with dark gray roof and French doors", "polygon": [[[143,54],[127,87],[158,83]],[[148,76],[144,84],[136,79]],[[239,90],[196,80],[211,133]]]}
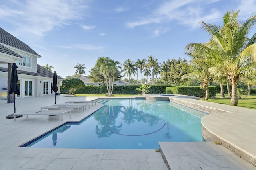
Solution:
{"label": "white two-storey house with dark gray roof and French doors", "polygon": [[[0,28],[0,94],[7,94],[8,63],[16,63],[18,66],[20,93],[17,97],[54,94],[51,90],[53,73],[37,64],[37,59],[40,57],[27,44]],[[62,78],[58,76],[59,89],[61,81]],[[0,97],[0,99],[6,98]]]}

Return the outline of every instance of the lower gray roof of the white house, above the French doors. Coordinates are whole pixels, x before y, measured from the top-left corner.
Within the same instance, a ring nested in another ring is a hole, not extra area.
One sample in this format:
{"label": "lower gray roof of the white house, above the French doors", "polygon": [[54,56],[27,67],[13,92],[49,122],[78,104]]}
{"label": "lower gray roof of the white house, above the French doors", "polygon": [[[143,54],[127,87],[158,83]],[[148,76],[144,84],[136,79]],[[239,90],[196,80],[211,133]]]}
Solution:
{"label": "lower gray roof of the white house, above the French doors", "polygon": [[[7,68],[3,68],[0,67],[0,71],[2,72],[8,72]],[[45,69],[44,67],[40,66],[39,64],[37,64],[37,73],[36,72],[28,72],[28,71],[22,71],[17,69],[18,74],[25,74],[25,75],[31,75],[31,76],[40,76],[40,77],[48,77],[48,78],[52,78],[53,77],[53,73],[50,72],[49,70]],[[57,76],[58,79],[63,79],[60,76]]]}

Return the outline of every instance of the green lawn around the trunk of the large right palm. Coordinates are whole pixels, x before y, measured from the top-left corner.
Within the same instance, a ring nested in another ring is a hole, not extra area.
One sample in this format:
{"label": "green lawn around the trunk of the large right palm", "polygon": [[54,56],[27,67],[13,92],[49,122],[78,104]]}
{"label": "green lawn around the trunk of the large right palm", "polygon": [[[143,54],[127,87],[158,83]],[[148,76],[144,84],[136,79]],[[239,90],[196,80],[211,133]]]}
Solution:
{"label": "green lawn around the trunk of the large right palm", "polygon": [[[228,95],[225,94],[225,96]],[[204,100],[204,98],[200,98],[200,100]],[[220,98],[220,95],[217,94],[216,98],[209,98],[208,100],[204,101],[230,105],[231,98]],[[256,109],[256,94],[252,94],[250,96],[242,96],[242,98],[238,99],[237,106]]]}

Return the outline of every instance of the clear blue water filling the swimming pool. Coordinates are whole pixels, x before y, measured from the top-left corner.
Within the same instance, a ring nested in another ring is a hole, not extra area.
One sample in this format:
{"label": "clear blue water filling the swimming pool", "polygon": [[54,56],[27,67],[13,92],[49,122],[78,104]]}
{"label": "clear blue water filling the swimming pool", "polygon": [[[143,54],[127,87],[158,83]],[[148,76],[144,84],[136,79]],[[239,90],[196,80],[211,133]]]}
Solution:
{"label": "clear blue water filling the swimming pool", "polygon": [[173,102],[104,100],[80,123],[66,123],[26,147],[155,149],[158,141],[202,141],[200,111]]}

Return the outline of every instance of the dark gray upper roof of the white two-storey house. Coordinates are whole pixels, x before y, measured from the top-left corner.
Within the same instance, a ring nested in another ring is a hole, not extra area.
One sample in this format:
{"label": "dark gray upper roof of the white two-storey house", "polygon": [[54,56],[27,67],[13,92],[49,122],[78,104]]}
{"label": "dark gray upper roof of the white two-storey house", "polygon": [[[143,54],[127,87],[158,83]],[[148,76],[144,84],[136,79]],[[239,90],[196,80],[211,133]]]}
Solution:
{"label": "dark gray upper roof of the white two-storey house", "polygon": [[12,47],[15,47],[17,49],[32,53],[34,55],[37,55],[38,57],[41,57],[38,53],[36,53],[33,49],[31,49],[28,45],[20,41],[18,38],[14,37],[4,29],[0,27],[0,43],[4,43],[6,45],[10,45]]}

